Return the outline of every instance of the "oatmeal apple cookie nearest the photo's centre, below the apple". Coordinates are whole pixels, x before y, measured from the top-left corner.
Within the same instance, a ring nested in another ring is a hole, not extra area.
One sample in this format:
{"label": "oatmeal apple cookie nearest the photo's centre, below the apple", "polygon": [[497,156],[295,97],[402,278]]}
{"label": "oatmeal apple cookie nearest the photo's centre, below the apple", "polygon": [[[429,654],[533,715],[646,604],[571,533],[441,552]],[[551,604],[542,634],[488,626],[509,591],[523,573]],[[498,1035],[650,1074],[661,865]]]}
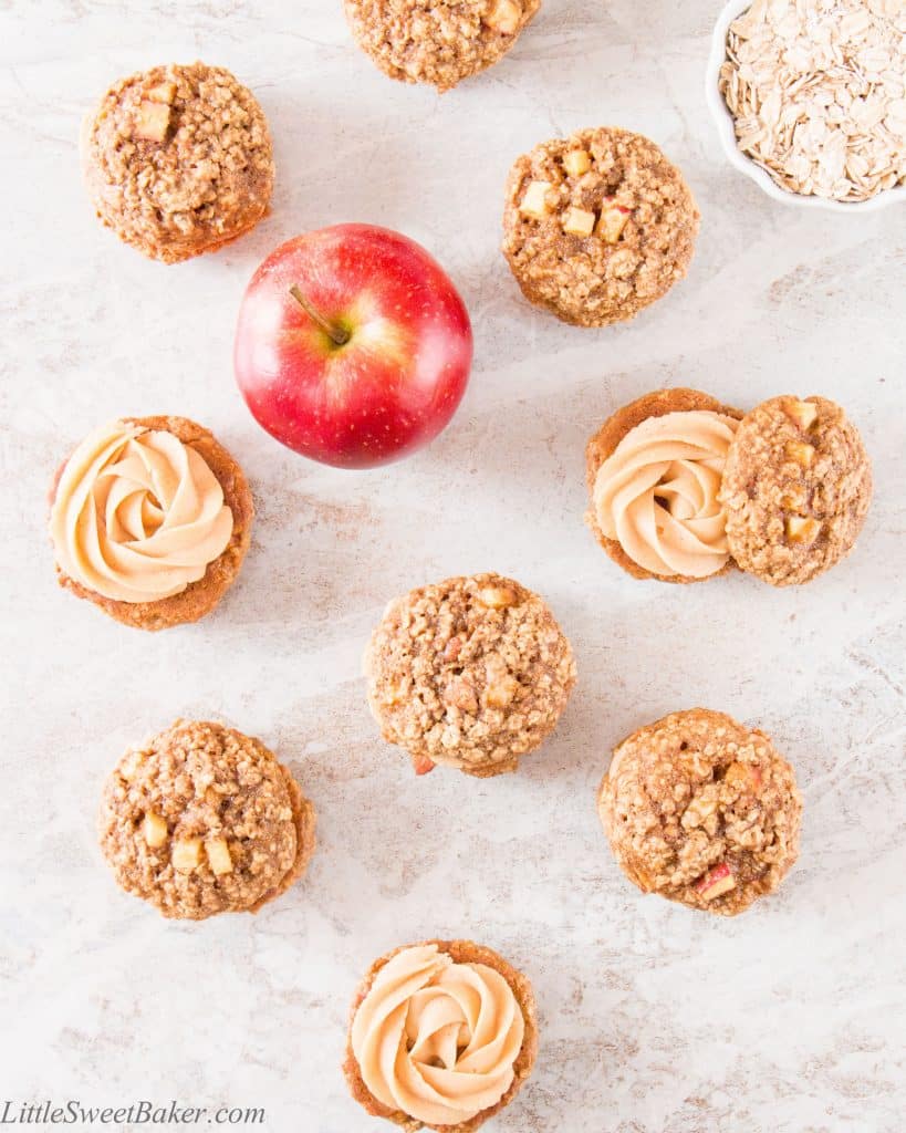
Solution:
{"label": "oatmeal apple cookie nearest the photo's centre, below the apple", "polygon": [[365,657],[384,739],[421,773],[516,769],[575,683],[570,642],[538,597],[499,574],[451,578],[392,602]]}

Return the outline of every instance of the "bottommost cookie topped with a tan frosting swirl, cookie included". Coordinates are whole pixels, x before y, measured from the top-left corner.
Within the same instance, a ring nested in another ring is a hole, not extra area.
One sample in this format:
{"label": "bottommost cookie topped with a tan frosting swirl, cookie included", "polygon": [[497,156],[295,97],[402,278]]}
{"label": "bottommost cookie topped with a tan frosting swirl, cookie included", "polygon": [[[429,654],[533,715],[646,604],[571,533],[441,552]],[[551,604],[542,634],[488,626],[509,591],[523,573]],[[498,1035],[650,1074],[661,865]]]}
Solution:
{"label": "bottommost cookie topped with a tan frosting swirl, cookie included", "polygon": [[472,1133],[510,1105],[537,1049],[528,979],[471,940],[428,940],[371,965],[343,1071],[359,1105],[407,1133]]}

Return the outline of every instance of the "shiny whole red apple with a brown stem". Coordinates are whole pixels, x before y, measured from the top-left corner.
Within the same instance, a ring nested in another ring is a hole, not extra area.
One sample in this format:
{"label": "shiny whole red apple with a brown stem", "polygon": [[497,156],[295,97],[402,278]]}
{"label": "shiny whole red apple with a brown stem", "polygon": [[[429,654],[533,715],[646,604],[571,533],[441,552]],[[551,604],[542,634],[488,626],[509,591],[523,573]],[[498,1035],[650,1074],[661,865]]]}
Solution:
{"label": "shiny whole red apple with a brown stem", "polygon": [[337,224],[289,240],[251,278],[236,377],[258,424],[342,468],[427,444],[456,410],[472,361],[469,313],[413,240]]}

